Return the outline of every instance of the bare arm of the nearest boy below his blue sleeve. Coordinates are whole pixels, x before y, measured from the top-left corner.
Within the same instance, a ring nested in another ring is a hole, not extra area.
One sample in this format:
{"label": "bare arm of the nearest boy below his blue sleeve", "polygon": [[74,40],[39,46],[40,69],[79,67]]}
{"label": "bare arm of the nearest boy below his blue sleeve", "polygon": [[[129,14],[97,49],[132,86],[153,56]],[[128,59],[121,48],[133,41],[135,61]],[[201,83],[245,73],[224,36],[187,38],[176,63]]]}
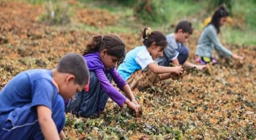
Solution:
{"label": "bare arm of the nearest boy below his blue sleeve", "polygon": [[39,125],[42,134],[47,140],[56,140],[59,138],[59,133],[57,131],[56,125],[51,117],[51,110],[47,106],[37,106],[37,115]]}

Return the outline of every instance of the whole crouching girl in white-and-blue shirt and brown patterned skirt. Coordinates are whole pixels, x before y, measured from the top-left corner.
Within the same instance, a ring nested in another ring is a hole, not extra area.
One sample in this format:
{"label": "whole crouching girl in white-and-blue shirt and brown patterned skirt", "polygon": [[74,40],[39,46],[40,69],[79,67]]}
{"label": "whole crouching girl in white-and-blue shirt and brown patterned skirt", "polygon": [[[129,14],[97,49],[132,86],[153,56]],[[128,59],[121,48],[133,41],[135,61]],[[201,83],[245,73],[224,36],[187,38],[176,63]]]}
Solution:
{"label": "whole crouching girl in white-and-blue shirt and brown patterned skirt", "polygon": [[144,45],[130,50],[124,63],[118,66],[119,74],[129,82],[131,88],[146,88],[153,82],[170,78],[172,73],[182,73],[181,66],[158,66],[154,62],[157,58],[162,57],[167,46],[164,34],[159,31],[151,31],[151,28],[145,28],[143,39]]}

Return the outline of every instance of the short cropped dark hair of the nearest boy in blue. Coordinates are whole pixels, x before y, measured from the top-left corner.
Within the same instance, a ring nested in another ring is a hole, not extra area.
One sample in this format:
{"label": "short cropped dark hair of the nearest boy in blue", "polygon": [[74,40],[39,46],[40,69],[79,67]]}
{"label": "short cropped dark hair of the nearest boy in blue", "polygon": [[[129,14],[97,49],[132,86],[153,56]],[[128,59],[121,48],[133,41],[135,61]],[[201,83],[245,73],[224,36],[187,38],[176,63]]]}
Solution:
{"label": "short cropped dark hair of the nearest boy in blue", "polygon": [[64,55],[59,61],[57,71],[69,73],[75,76],[75,84],[87,85],[89,81],[89,69],[83,56],[78,53]]}

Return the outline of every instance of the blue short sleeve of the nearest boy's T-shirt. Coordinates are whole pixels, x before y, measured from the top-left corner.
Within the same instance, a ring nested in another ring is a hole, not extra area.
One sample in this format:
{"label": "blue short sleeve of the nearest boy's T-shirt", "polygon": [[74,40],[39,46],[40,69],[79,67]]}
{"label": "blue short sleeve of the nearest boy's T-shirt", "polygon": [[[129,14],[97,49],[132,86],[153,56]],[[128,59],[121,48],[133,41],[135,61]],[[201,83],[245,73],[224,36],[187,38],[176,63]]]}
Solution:
{"label": "blue short sleeve of the nearest boy's T-shirt", "polygon": [[52,110],[53,98],[58,90],[48,79],[37,79],[32,84],[32,106],[47,106]]}

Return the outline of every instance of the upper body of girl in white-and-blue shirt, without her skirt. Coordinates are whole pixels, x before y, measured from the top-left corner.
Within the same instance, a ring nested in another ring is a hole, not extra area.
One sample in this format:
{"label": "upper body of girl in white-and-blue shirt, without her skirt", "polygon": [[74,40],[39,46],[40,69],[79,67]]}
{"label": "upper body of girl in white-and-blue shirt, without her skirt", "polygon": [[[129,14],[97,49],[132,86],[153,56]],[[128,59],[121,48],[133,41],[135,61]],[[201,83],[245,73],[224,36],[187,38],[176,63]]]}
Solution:
{"label": "upper body of girl in white-and-blue shirt, without her skirt", "polygon": [[135,71],[151,70],[154,74],[158,74],[160,80],[170,78],[170,74],[181,74],[181,66],[167,67],[158,66],[154,62],[159,57],[162,57],[163,51],[167,46],[167,40],[164,34],[159,31],[151,31],[151,28],[145,28],[143,31],[143,46],[135,47],[130,50],[124,62],[118,66],[118,73],[124,80],[129,79]]}

